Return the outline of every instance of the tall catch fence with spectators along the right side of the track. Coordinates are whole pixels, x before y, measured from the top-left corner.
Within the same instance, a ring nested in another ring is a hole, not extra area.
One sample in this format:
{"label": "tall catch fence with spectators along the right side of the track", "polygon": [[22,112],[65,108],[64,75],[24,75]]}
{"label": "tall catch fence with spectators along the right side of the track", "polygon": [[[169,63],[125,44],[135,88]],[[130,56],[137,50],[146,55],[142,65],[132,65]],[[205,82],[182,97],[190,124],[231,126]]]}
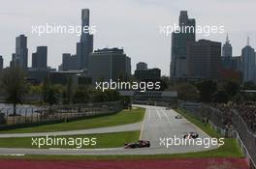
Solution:
{"label": "tall catch fence with spectators along the right side of the track", "polygon": [[252,168],[256,168],[256,134],[246,125],[236,109],[220,111],[204,103],[179,101],[179,107],[187,110],[191,116],[210,124],[225,137],[238,139],[240,148]]}

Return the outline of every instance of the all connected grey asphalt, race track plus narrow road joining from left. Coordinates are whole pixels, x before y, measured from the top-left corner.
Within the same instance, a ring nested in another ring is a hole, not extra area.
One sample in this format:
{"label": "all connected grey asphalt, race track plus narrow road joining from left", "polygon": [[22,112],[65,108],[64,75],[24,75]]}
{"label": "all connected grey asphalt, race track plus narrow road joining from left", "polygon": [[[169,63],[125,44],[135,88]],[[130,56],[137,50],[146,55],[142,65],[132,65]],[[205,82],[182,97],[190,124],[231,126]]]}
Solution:
{"label": "all connected grey asphalt, race track plus narrow road joining from left", "polygon": [[170,140],[179,138],[182,140],[183,135],[188,132],[197,132],[199,138],[209,138],[208,134],[199,127],[188,122],[185,118],[176,119],[178,115],[173,109],[166,109],[160,106],[136,105],[145,108],[144,121],[142,123],[117,126],[102,127],[83,130],[43,132],[43,133],[12,133],[0,134],[0,138],[10,137],[36,137],[44,135],[75,135],[87,133],[108,133],[129,130],[141,130],[142,140],[148,140],[151,143],[150,148],[143,149],[25,149],[25,148],[0,148],[0,155],[164,155],[164,154],[182,154],[192,152],[202,152],[216,149],[217,146],[204,145],[169,145]]}

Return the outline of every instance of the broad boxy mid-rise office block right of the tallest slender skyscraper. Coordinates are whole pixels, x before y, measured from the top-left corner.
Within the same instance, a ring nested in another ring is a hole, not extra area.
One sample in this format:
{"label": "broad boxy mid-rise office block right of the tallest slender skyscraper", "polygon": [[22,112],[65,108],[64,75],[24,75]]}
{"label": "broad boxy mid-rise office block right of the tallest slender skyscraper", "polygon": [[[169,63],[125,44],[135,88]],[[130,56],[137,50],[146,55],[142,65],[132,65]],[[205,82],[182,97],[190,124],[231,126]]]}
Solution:
{"label": "broad boxy mid-rise office block right of the tallest slender skyscraper", "polygon": [[[128,63],[127,63],[128,62]],[[131,59],[127,57],[123,49],[104,48],[95,50],[89,55],[89,75],[93,84],[96,81],[117,81],[120,77],[131,74]]]}

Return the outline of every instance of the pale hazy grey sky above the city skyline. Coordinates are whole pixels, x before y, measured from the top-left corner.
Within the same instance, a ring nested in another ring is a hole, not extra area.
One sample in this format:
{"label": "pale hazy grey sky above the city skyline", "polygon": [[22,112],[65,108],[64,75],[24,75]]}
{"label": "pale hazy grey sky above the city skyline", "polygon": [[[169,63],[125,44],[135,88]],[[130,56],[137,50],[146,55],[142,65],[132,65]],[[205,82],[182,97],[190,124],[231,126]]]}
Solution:
{"label": "pale hazy grey sky above the city skyline", "polygon": [[[159,33],[160,25],[174,25],[181,10],[196,18],[197,25],[224,25],[234,48],[240,55],[241,48],[250,36],[256,47],[255,0],[1,0],[0,6],[0,55],[5,67],[9,66],[15,52],[16,36],[28,37],[29,66],[31,53],[36,46],[48,45],[48,65],[57,68],[64,52],[76,53],[74,35],[32,34],[32,25],[60,24],[80,25],[80,9],[90,9],[90,24],[96,25],[94,49],[123,47],[132,58],[132,68],[138,62],[146,62],[149,68],[160,68],[169,75],[171,60],[171,36]],[[205,37],[225,42],[226,34]]]}

